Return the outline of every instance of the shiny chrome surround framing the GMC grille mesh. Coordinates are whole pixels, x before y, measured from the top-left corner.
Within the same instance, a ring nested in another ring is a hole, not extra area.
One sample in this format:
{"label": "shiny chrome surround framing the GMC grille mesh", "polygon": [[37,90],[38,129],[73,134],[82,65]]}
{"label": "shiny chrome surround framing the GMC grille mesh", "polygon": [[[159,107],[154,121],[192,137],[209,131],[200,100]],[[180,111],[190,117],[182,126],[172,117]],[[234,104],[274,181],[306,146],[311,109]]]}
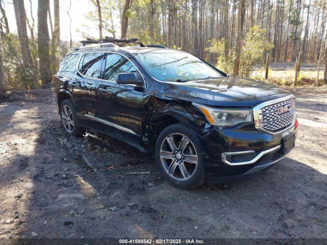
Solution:
{"label": "shiny chrome surround framing the GMC grille mesh", "polygon": [[265,102],[260,103],[259,105],[255,106],[255,107],[253,107],[252,110],[253,110],[253,120],[254,120],[255,129],[257,129],[259,131],[262,131],[262,132],[265,132],[265,133],[276,135],[276,134],[283,133],[283,132],[289,130],[290,128],[292,128],[295,125],[296,114],[294,116],[294,120],[293,120],[292,124],[289,127],[285,128],[285,129],[283,129],[281,131],[277,131],[277,132],[271,132],[269,130],[263,129],[260,126],[260,121],[259,121],[259,116],[262,113],[262,111],[261,111],[262,108],[264,108],[266,106],[278,104],[278,103],[281,103],[281,102],[284,102],[284,101],[287,101],[287,100],[291,100],[291,99],[295,99],[295,96],[293,94],[290,94],[290,95],[287,95],[287,96],[283,96],[283,97],[280,97],[278,99],[274,99],[274,100],[270,100],[270,101],[265,101]]}

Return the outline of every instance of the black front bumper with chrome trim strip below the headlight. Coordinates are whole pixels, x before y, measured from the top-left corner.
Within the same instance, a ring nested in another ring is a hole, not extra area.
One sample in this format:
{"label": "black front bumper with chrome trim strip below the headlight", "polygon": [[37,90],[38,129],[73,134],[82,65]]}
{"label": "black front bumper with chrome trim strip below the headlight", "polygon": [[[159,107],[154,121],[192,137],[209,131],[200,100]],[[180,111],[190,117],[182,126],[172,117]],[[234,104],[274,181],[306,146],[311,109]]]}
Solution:
{"label": "black front bumper with chrome trim strip below the headlight", "polygon": [[282,138],[297,128],[279,134],[255,129],[212,128],[202,137],[202,159],[206,176],[211,183],[246,179],[263,173],[282,160]]}

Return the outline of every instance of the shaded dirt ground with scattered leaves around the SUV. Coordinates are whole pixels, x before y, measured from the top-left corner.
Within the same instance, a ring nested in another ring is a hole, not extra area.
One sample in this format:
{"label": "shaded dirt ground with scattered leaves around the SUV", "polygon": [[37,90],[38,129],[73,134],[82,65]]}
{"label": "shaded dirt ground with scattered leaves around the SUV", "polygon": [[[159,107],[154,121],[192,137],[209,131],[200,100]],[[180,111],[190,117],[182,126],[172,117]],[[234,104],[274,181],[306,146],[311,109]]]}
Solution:
{"label": "shaded dirt ground with scattered leaves around the SUV", "polygon": [[0,238],[327,238],[327,90],[292,92],[287,158],[251,180],[180,190],[152,155],[67,136],[52,88],[14,91],[0,103]]}

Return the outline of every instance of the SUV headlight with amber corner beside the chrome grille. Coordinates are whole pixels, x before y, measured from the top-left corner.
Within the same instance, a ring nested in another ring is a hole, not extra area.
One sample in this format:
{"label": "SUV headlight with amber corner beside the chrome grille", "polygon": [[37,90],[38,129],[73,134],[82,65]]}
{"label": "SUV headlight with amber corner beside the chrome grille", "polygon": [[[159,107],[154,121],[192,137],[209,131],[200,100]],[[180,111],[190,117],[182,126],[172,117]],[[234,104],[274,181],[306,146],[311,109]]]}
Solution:
{"label": "SUV headlight with amber corner beside the chrome grille", "polygon": [[192,104],[203,112],[206,119],[212,125],[225,127],[252,121],[252,110],[228,108],[219,109],[197,103]]}

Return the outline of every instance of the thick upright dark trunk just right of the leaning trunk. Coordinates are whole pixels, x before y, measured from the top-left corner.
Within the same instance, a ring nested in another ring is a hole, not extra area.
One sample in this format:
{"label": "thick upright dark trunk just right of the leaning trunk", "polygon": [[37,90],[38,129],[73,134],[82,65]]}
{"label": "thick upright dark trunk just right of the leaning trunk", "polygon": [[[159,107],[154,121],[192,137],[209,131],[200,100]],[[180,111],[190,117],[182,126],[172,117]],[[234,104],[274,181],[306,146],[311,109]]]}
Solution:
{"label": "thick upright dark trunk just right of the leaning trunk", "polygon": [[47,13],[49,0],[38,0],[37,10],[37,46],[42,84],[50,83],[49,30]]}

